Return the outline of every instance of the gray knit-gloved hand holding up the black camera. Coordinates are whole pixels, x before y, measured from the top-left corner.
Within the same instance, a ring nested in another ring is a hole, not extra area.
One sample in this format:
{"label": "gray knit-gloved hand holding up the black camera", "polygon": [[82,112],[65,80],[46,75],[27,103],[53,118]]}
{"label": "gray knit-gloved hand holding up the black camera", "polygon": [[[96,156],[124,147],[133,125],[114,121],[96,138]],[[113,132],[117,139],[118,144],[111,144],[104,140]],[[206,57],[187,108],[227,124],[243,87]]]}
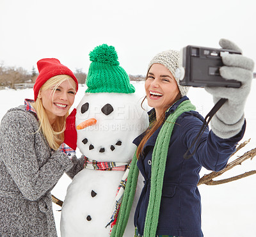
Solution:
{"label": "gray knit-gloved hand holding up the black camera", "polygon": [[[223,49],[241,52],[241,49],[229,40],[221,39],[220,46]],[[222,61],[225,66],[220,68],[221,77],[240,81],[241,87],[211,87],[205,90],[213,96],[214,103],[220,98],[228,99],[211,120],[212,132],[218,137],[227,139],[237,135],[244,124],[244,105],[251,89],[254,62],[241,54],[223,55]]]}

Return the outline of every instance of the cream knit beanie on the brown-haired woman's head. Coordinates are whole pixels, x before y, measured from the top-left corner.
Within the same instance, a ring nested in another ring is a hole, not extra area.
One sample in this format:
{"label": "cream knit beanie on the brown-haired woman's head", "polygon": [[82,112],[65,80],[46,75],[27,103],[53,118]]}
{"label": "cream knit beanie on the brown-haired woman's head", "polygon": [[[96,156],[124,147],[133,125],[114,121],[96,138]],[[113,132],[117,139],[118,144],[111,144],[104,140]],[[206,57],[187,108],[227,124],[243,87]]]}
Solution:
{"label": "cream knit beanie on the brown-haired woman's head", "polygon": [[177,50],[167,50],[167,51],[161,52],[157,54],[155,57],[153,57],[153,59],[150,61],[148,65],[148,70],[154,63],[159,63],[161,65],[164,65],[172,73],[173,77],[175,78],[180,90],[180,94],[183,97],[188,94],[189,87],[180,86],[180,83],[179,83],[180,80],[175,76],[175,70],[179,68],[179,57],[180,57],[180,54],[179,54],[179,51]]}

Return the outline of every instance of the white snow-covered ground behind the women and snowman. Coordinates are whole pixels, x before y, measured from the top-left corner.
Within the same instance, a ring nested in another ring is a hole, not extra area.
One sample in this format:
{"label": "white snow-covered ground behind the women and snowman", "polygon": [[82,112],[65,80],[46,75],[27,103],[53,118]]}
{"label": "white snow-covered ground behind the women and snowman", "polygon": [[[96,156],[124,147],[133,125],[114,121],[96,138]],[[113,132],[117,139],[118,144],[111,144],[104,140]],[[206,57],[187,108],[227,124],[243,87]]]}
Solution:
{"label": "white snow-covered ground behind the women and snowman", "polygon": [[[143,82],[132,82],[136,87],[137,93],[144,95]],[[80,86],[76,95],[74,107],[78,105],[83,97],[86,87]],[[256,79],[253,79],[253,86],[245,108],[247,121],[246,133],[241,142],[251,139],[237,155],[243,155],[246,151],[256,148],[256,108],[255,108]],[[211,95],[207,94],[202,88],[191,88],[188,96],[197,110],[205,116],[213,106]],[[13,90],[6,89],[0,91],[0,119],[5,112],[23,103],[24,98],[33,98],[33,89]],[[79,153],[79,152],[78,152]],[[234,160],[233,157],[232,160]],[[231,159],[230,159],[231,161]],[[246,171],[256,169],[256,158],[252,161],[247,160],[244,164],[223,174],[220,178],[229,178]],[[209,173],[202,169],[201,176]],[[66,174],[60,179],[52,194],[64,200],[70,178]],[[207,186],[200,185],[202,196],[202,230],[205,237],[225,236],[225,237],[244,237],[256,236],[256,175],[249,176],[242,180],[231,183]],[[61,208],[53,204],[56,226],[60,236],[60,215]]]}

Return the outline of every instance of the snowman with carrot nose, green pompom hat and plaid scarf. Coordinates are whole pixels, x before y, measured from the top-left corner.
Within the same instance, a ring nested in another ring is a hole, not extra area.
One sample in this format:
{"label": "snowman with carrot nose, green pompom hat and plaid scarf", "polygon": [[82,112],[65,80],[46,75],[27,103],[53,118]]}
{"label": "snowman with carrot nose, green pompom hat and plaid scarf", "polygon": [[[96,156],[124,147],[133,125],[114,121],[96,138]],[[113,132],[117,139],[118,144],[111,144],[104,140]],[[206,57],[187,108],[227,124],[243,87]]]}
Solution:
{"label": "snowman with carrot nose, green pompom hat and plaid scarf", "polygon": [[[109,236],[122,204],[129,164],[136,146],[132,141],[148,127],[147,112],[119,66],[113,46],[90,52],[92,61],[86,93],[77,106],[77,148],[84,169],[68,186],[61,210],[61,236]],[[134,236],[133,216],[138,203],[138,185],[124,236]]]}

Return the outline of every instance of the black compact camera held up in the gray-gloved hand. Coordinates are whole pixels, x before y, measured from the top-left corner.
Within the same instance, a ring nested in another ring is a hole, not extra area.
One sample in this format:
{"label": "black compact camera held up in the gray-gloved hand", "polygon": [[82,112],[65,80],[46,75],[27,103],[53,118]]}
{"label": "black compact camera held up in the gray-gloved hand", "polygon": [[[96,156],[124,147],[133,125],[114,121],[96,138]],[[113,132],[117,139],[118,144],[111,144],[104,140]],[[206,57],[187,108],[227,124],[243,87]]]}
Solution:
{"label": "black compact camera held up in the gray-gloved hand", "polygon": [[180,50],[180,65],[176,70],[176,77],[180,79],[180,85],[239,88],[241,82],[226,80],[220,75],[223,54],[241,54],[241,52],[191,45],[184,47]]}

